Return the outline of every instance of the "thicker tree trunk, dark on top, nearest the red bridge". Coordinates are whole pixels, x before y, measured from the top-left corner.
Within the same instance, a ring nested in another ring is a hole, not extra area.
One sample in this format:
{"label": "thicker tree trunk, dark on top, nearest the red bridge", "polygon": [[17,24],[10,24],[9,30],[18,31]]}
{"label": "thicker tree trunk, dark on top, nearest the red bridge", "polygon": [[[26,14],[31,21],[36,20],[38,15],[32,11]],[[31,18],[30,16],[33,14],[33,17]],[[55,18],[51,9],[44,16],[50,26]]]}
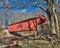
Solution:
{"label": "thicker tree trunk, dark on top, nearest the red bridge", "polygon": [[47,2],[47,15],[48,15],[48,18],[49,18],[49,21],[50,21],[50,29],[51,29],[51,32],[52,34],[56,34],[56,31],[55,31],[55,23],[54,23],[54,15],[53,15],[53,8],[52,8],[52,3],[53,3],[53,0],[46,0]]}

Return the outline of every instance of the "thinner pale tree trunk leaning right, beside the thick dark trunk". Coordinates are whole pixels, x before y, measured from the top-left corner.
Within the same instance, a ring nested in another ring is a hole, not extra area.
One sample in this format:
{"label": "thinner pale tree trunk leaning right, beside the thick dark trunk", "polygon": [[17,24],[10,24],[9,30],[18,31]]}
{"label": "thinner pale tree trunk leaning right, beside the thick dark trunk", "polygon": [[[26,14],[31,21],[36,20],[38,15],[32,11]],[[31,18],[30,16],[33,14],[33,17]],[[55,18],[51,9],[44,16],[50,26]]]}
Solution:
{"label": "thinner pale tree trunk leaning right, beside the thick dark trunk", "polygon": [[57,36],[60,38],[58,18],[57,18],[57,15],[56,15],[56,11],[55,10],[56,9],[55,9],[54,4],[53,4],[53,14],[54,14],[55,30],[56,30]]}

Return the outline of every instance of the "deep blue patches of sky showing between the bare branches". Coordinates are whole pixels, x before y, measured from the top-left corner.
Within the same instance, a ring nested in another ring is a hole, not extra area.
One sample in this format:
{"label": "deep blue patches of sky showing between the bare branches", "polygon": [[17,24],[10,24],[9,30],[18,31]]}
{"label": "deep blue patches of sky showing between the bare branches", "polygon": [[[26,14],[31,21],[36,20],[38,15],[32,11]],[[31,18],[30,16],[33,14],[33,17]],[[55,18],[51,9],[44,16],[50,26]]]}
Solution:
{"label": "deep blue patches of sky showing between the bare branches", "polygon": [[[9,2],[9,3],[14,3],[14,1],[13,0],[5,0],[6,2]],[[19,2],[27,2],[28,0],[17,0],[17,1],[19,1]],[[42,1],[42,0],[41,0]],[[0,3],[0,5],[1,5],[2,3]],[[10,4],[10,6],[12,6],[12,4]],[[42,7],[44,8],[44,9],[46,9],[46,5],[45,4],[43,4],[42,5]],[[15,8],[13,8],[12,10],[13,11],[16,11],[16,10],[27,10],[27,12],[31,12],[31,11],[35,11],[37,8],[34,8],[34,7],[25,7],[24,9],[23,8],[18,8],[18,7],[15,7]],[[1,12],[2,10],[0,9],[0,12]]]}

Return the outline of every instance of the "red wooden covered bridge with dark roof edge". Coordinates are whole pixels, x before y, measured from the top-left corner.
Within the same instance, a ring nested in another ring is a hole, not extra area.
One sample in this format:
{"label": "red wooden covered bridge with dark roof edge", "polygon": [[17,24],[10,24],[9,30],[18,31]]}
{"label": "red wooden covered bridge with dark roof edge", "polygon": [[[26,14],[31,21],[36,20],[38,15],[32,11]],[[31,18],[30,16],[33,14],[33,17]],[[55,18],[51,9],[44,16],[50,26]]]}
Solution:
{"label": "red wooden covered bridge with dark roof edge", "polygon": [[25,21],[21,21],[18,23],[14,23],[8,26],[9,32],[17,32],[17,31],[36,31],[37,25],[43,24],[46,21],[45,16],[40,16],[32,19],[28,19]]}

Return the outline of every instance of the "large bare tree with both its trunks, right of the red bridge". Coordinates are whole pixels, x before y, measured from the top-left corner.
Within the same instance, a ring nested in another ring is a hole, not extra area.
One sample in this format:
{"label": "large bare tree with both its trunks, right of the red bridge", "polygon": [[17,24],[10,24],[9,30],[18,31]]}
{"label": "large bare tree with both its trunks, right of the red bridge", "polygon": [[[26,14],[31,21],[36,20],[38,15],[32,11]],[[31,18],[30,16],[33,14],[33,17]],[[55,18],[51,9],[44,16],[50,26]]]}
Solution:
{"label": "large bare tree with both its trunks, right of the red bridge", "polygon": [[46,0],[46,2],[47,2],[47,15],[50,21],[51,31],[52,33],[55,33],[57,34],[58,37],[60,37],[54,0]]}

